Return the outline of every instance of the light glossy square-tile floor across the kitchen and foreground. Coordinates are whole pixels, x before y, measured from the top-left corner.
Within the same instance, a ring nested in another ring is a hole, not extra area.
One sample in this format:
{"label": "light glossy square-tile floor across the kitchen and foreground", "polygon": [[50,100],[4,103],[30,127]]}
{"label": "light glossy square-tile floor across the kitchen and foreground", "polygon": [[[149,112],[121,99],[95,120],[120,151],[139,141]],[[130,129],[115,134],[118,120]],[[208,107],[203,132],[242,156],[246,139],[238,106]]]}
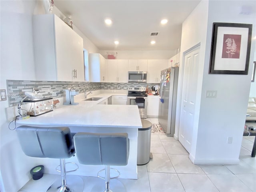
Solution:
{"label": "light glossy square-tile floor across the kitchen and foreground", "polygon": [[[157,118],[147,120],[158,123]],[[256,126],[256,122],[246,124]],[[110,188],[113,192],[255,192],[256,158],[250,156],[253,142],[253,136],[243,137],[238,165],[198,166],[192,164],[188,152],[174,138],[151,135],[153,158],[148,164],[138,166],[138,180],[113,179]],[[46,176],[52,179],[52,176]],[[104,190],[104,180],[94,177],[82,179],[83,192]],[[34,186],[28,182],[20,191],[34,192],[29,189],[30,185]]]}

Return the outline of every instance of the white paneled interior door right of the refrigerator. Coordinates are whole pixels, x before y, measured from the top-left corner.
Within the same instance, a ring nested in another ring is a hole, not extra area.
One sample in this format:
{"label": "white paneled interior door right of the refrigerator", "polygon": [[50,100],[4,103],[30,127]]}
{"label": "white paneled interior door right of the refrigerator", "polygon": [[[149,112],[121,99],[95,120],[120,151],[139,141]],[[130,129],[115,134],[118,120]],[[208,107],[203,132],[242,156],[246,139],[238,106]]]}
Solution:
{"label": "white paneled interior door right of the refrigerator", "polygon": [[199,52],[200,46],[187,52],[184,59],[179,141],[189,153],[194,127]]}

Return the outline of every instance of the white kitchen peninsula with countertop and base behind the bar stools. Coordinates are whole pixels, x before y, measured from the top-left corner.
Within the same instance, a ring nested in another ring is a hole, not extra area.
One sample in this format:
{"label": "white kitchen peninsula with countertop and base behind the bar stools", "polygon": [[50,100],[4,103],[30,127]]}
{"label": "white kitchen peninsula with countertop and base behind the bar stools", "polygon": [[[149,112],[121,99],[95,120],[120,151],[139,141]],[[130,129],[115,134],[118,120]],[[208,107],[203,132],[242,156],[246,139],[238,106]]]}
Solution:
{"label": "white kitchen peninsula with countertop and base behind the bar stools", "polygon": [[[61,106],[54,111],[37,117],[17,120],[17,126],[60,127],[67,126],[71,132],[91,133],[128,133],[130,139],[130,154],[126,166],[112,166],[120,171],[120,178],[137,179],[137,140],[138,128],[142,128],[138,106],[133,105],[101,105],[98,101],[80,101],[78,105]],[[45,172],[58,174],[55,167],[58,159],[34,158],[38,164],[46,167]],[[97,176],[104,166],[79,164],[76,156],[66,160],[76,162],[79,169],[71,174],[80,176]],[[70,168],[72,169],[72,168]],[[67,165],[67,170],[69,167]]]}

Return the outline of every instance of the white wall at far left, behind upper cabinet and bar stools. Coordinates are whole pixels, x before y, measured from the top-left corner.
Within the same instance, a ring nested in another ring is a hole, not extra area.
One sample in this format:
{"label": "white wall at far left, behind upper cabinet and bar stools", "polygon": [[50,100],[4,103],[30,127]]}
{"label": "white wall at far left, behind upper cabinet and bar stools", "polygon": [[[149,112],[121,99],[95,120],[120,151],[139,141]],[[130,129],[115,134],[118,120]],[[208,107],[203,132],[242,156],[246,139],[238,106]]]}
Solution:
{"label": "white wall at far left, behind upper cabinet and bar stools", "polygon": [[[36,80],[34,67],[32,15],[45,14],[42,1],[0,1],[1,57],[0,89],[7,90],[6,80]],[[61,15],[54,7],[53,12]],[[84,48],[98,52],[98,48],[75,26],[74,30],[84,39]],[[18,191],[31,178],[30,169],[39,162],[22,152],[16,132],[8,129],[5,108],[8,100],[0,102],[0,173],[1,191]],[[13,127],[13,124],[11,126]]]}

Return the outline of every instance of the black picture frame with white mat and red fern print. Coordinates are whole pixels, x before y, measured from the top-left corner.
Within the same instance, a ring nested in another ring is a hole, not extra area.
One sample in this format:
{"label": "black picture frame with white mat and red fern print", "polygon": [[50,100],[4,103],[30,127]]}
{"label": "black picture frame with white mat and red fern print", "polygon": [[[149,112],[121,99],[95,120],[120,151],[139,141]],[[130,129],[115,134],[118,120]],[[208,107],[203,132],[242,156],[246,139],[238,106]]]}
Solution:
{"label": "black picture frame with white mat and red fern print", "polygon": [[213,23],[209,74],[248,75],[252,24]]}

